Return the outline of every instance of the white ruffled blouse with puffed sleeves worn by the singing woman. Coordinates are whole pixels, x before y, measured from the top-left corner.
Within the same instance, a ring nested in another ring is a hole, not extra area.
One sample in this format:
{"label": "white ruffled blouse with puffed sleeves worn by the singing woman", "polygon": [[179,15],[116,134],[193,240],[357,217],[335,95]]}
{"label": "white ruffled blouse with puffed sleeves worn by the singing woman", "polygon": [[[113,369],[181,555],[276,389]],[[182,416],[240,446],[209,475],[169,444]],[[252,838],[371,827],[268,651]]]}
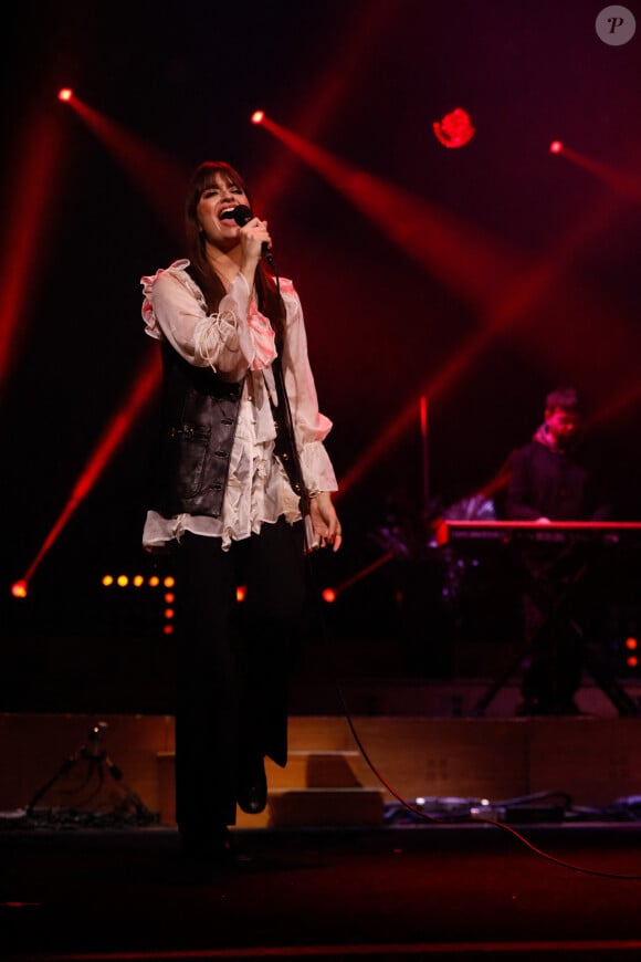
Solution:
{"label": "white ruffled blouse with puffed sleeves worn by the singing woman", "polygon": [[[164,517],[149,511],[143,532],[148,551],[180,540],[185,531],[221,537],[228,550],[232,541],[260,532],[263,523],[281,515],[290,522],[301,517],[298,499],[274,457],[276,431],[270,395],[276,400],[271,367],[276,348],[271,324],[259,312],[240,272],[218,312],[209,314],[188,265],[187,260],[175,261],[141,279],[146,333],[157,341],[167,339],[190,364],[211,367],[225,380],[244,379],[244,384],[221,516]],[[283,373],[303,477],[311,493],[336,491],[336,475],[323,443],[332,421],[318,410],[303,309],[292,282],[281,278],[280,284],[286,311]]]}

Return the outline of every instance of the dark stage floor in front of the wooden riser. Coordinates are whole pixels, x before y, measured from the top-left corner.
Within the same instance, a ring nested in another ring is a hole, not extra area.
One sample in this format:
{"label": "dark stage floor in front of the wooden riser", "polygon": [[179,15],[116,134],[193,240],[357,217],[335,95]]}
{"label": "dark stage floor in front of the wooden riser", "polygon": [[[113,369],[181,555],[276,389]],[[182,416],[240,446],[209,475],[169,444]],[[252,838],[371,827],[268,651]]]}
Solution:
{"label": "dark stage floor in front of the wooden riser", "polygon": [[223,874],[170,828],[4,828],[2,959],[641,956],[641,824],[235,836]]}

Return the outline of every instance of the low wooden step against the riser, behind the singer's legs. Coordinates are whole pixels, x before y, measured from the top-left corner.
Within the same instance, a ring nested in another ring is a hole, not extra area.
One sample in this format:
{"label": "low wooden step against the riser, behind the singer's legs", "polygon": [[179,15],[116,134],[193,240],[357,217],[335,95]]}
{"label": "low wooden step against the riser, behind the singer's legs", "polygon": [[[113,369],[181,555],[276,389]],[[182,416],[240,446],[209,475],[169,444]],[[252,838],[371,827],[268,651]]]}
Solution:
{"label": "low wooden step against the riser, behind the singer's legs", "polygon": [[[267,806],[259,815],[237,813],[239,828],[284,826],[379,825],[382,822],[383,792],[366,787],[355,765],[356,751],[290,751],[284,768],[265,760]],[[175,753],[158,753],[160,822],[176,824]]]}

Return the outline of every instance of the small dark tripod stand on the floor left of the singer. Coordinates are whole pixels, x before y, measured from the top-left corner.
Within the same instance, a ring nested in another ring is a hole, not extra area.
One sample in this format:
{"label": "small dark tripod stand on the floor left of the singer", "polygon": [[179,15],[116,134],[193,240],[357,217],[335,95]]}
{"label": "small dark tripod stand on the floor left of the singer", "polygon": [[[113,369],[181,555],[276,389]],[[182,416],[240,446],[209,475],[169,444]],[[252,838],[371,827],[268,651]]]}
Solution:
{"label": "small dark tripod stand on the floor left of the singer", "polygon": [[102,747],[102,740],[105,736],[107,728],[108,725],[104,721],[97,722],[96,724],[92,725],[88,731],[87,743],[82,744],[75,752],[73,752],[73,754],[64,759],[63,763],[54,773],[54,775],[49,780],[49,782],[46,782],[33,795],[31,802],[27,806],[28,816],[32,817],[34,815],[35,806],[38,805],[38,803],[48,794],[48,792],[50,792],[50,790],[57,782],[60,782],[60,780],[69,775],[70,772],[72,772],[77,765],[85,762],[86,775],[84,782],[77,791],[82,792],[85,788],[91,788],[92,785],[94,785],[94,787],[88,797],[80,802],[76,807],[86,806],[90,802],[97,797],[101,788],[105,783],[106,768],[114,782],[118,783],[118,785],[120,785],[123,788],[124,798],[119,807],[123,811],[127,808],[133,808],[136,815],[146,823],[150,823],[154,820],[151,812],[149,812],[149,809],[141,802],[140,797],[136,794],[136,792],[134,792],[133,788],[130,788],[123,782],[123,773],[120,768],[118,768],[112,762],[106,752],[106,749]]}

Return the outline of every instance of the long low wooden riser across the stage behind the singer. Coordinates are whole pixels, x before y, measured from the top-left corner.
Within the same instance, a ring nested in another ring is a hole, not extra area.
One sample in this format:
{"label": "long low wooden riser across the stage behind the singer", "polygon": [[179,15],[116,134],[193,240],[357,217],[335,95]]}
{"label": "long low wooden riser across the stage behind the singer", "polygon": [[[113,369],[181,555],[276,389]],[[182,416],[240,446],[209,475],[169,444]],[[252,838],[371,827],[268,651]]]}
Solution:
{"label": "long low wooden riser across the stage behind the singer", "polygon": [[[87,735],[97,721],[107,723],[97,747],[105,753],[105,783],[88,801],[84,786],[92,749]],[[641,793],[641,719],[351,719],[371,766],[402,797],[487,798],[491,802],[540,792],[563,792],[577,806],[606,806],[618,797]],[[267,764],[271,793],[282,796],[318,791],[347,798],[347,790],[364,798],[367,819],[374,795],[395,801],[359,751],[345,718],[295,717],[290,724],[291,765]],[[78,761],[69,764],[78,755]],[[25,808],[35,794],[57,777],[38,803],[40,808],[85,805],[105,811],[133,790],[165,824],[174,818],[174,719],[167,715],[0,715],[0,811]],[[113,777],[113,767],[122,778]],[[300,797],[300,796],[298,796]],[[317,798],[317,794],[314,796]],[[347,809],[356,811],[354,799]],[[309,799],[309,812],[314,805]],[[336,802],[338,805],[338,802]],[[345,816],[346,806],[336,818]],[[290,806],[291,808],[291,806]],[[318,808],[320,811],[320,808]],[[243,816],[239,825],[262,827],[265,817]],[[364,816],[365,817],[365,816]],[[309,815],[314,824],[313,814]]]}

